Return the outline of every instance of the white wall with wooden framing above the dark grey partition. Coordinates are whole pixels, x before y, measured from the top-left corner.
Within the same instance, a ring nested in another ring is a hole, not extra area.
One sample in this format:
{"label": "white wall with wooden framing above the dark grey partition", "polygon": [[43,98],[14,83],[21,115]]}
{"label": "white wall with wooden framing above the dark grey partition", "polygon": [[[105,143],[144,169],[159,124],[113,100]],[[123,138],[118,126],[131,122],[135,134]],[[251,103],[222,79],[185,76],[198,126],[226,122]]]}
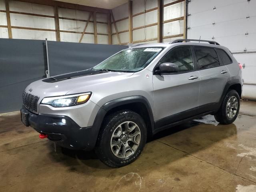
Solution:
{"label": "white wall with wooden framing above the dark grey partition", "polygon": [[0,38],[120,45],[170,42],[185,34],[184,12],[184,0],[129,0],[112,10],[0,0]]}

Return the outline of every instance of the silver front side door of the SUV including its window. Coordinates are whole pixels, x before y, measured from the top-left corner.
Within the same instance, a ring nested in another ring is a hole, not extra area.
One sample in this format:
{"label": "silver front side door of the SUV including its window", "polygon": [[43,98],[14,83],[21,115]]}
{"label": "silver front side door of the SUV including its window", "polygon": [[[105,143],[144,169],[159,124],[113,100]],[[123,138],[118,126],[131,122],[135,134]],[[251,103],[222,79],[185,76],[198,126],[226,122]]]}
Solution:
{"label": "silver front side door of the SUV including its window", "polygon": [[[200,86],[199,72],[194,70],[192,48],[178,46],[172,48],[158,63],[175,63],[178,72],[153,75],[154,120],[161,127],[193,116],[198,107]],[[158,126],[156,126],[158,128]]]}

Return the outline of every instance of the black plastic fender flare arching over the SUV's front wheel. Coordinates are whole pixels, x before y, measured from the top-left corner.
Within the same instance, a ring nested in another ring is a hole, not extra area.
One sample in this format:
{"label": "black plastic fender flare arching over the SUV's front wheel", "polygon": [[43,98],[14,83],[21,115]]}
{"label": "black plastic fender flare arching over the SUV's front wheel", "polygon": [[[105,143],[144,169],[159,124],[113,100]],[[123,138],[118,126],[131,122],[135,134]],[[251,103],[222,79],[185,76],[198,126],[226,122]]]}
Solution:
{"label": "black plastic fender flare arching over the SUV's front wheel", "polygon": [[153,116],[153,112],[152,109],[150,107],[150,104],[148,102],[148,100],[144,97],[144,96],[140,96],[140,95],[136,95],[136,96],[128,96],[128,97],[123,97],[123,98],[118,98],[118,99],[114,99],[111,100],[109,102],[106,102],[99,110],[98,113],[96,115],[96,118],[94,119],[94,123],[92,125],[92,141],[95,141],[94,143],[92,143],[92,146],[96,145],[96,141],[98,138],[98,134],[100,132],[100,127],[101,124],[107,114],[108,111],[110,111],[113,108],[116,108],[118,106],[122,106],[125,104],[132,104],[132,103],[142,103],[144,104],[144,106],[147,109],[148,112],[148,116],[150,119],[150,124],[151,124],[151,128],[152,128],[152,132],[154,130],[154,116]]}

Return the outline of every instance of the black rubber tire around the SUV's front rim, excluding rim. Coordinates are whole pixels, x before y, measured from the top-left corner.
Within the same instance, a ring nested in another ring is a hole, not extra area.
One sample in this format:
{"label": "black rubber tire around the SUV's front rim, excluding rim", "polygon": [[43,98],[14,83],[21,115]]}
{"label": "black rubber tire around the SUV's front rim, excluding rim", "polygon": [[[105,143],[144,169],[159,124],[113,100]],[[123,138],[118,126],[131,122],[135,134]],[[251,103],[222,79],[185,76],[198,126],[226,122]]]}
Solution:
{"label": "black rubber tire around the SUV's front rim, excluding rim", "polygon": [[[114,130],[122,122],[131,121],[138,125],[140,129],[140,143],[134,151],[134,153],[127,158],[118,158],[112,152],[110,142]],[[114,112],[104,118],[102,127],[97,139],[95,152],[98,158],[107,166],[110,167],[122,167],[134,162],[141,154],[147,139],[147,129],[143,118],[131,110],[120,110]]]}

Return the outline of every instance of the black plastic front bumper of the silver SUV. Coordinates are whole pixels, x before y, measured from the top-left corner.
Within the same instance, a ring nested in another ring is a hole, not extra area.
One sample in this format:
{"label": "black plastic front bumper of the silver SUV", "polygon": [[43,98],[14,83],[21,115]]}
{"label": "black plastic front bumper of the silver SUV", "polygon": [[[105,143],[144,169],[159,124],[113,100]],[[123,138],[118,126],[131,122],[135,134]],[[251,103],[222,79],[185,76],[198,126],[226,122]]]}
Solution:
{"label": "black plastic front bumper of the silver SUV", "polygon": [[26,114],[27,126],[39,133],[47,134],[48,139],[70,149],[92,150],[96,144],[99,128],[81,128],[67,116],[34,114],[22,105],[21,112]]}

